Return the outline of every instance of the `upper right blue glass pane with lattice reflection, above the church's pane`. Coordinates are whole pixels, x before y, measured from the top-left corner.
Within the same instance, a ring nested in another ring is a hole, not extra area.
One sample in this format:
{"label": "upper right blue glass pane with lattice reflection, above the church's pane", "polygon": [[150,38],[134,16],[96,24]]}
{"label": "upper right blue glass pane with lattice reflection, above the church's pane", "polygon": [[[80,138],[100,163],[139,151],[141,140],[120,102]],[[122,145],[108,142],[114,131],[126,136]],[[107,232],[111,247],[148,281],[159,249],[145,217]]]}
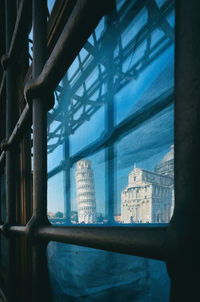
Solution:
{"label": "upper right blue glass pane with lattice reflection, above the church's pane", "polygon": [[[157,2],[151,1],[138,9],[135,1],[126,1],[119,10],[121,22],[126,25],[113,46],[116,124],[152,100],[159,100],[163,93],[173,90],[174,10],[171,8],[169,13],[169,7],[163,6],[165,1]],[[154,17],[150,19],[153,11]],[[164,23],[159,26],[160,15]],[[131,22],[127,22],[127,18]]]}

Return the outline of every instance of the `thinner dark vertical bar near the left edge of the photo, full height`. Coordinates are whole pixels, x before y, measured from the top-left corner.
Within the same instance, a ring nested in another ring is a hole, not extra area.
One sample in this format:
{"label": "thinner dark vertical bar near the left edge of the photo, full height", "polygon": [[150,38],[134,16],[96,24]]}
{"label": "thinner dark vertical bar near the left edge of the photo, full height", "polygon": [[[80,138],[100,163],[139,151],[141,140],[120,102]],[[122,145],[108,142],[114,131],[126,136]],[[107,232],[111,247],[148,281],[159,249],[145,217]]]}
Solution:
{"label": "thinner dark vertical bar near the left edge of the photo, full height", "polygon": [[[6,53],[9,53],[10,43],[16,20],[16,2],[5,1],[6,10]],[[15,68],[13,62],[9,62],[6,69],[6,138],[12,133],[16,122],[16,87]],[[16,224],[16,154],[12,150],[6,151],[6,223]],[[13,238],[7,238],[7,300],[17,300],[16,284],[16,242]],[[16,299],[15,299],[16,298]]]}

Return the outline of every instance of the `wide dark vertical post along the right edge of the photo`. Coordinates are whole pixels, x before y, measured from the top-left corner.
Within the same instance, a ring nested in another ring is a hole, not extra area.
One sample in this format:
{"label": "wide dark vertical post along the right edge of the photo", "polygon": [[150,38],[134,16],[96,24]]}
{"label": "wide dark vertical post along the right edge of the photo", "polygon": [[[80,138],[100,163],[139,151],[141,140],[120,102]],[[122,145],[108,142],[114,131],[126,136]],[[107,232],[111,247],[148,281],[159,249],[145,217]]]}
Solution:
{"label": "wide dark vertical post along the right edge of the photo", "polygon": [[198,301],[200,245],[200,3],[176,1],[175,211],[168,228],[171,301]]}

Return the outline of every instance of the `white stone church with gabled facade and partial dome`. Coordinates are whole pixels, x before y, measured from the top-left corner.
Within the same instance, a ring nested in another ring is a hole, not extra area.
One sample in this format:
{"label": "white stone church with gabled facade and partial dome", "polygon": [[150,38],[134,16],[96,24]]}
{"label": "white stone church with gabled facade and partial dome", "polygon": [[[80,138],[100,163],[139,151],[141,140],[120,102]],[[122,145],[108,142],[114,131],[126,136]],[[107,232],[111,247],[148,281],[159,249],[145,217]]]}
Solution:
{"label": "white stone church with gabled facade and partial dome", "polygon": [[155,172],[134,166],[128,186],[121,193],[122,222],[169,222],[174,208],[173,171],[173,147]]}

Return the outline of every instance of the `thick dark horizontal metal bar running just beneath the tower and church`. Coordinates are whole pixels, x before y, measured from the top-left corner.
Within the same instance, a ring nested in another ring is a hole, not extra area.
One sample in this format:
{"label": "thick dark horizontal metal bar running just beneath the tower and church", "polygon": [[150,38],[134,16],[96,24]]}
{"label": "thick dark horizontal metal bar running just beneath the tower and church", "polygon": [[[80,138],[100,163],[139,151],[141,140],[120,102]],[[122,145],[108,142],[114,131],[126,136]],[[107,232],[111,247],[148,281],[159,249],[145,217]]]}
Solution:
{"label": "thick dark horizontal metal bar running just beneath the tower and church", "polygon": [[[7,226],[7,234],[33,235],[37,239],[57,241],[101,250],[165,261],[165,236],[168,224],[137,226]],[[0,230],[2,231],[2,226]]]}

